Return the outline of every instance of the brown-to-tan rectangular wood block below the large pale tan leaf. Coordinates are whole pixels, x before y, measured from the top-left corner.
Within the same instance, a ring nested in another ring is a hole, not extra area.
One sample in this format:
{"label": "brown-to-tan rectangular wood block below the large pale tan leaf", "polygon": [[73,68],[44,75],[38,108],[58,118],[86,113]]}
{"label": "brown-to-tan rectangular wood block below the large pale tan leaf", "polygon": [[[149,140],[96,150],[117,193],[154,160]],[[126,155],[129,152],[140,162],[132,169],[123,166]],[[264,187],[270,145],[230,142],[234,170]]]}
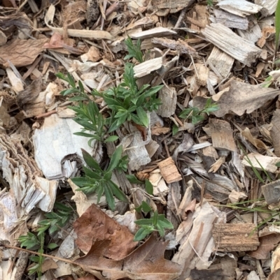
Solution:
{"label": "brown-to-tan rectangular wood block below the large pale tan leaf", "polygon": [[237,148],[233,139],[232,128],[228,121],[209,119],[209,127],[214,148],[221,151],[236,151]]}

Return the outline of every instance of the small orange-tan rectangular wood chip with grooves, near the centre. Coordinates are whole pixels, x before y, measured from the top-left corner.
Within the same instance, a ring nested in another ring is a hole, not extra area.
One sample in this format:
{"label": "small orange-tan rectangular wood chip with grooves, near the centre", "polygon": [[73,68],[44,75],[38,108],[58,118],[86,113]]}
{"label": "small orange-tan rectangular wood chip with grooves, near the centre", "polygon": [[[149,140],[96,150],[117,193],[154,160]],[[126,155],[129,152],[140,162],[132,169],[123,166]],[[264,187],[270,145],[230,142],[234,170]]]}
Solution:
{"label": "small orange-tan rectangular wood chip with grooves, near the centre", "polygon": [[181,181],[181,174],[178,172],[178,169],[171,156],[164,161],[160,161],[160,163],[158,163],[158,167],[160,168],[162,177],[164,177],[168,184]]}

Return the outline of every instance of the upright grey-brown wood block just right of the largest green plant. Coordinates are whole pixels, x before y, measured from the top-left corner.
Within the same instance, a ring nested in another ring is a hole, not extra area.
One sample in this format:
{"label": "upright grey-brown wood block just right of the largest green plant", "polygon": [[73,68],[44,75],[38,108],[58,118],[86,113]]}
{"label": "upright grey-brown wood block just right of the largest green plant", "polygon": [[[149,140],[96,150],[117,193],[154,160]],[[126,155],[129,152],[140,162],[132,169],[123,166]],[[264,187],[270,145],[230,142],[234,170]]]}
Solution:
{"label": "upright grey-brown wood block just right of the largest green plant", "polygon": [[160,89],[158,98],[162,101],[162,105],[158,107],[158,115],[161,117],[171,117],[174,115],[177,103],[177,93],[174,87],[163,87]]}

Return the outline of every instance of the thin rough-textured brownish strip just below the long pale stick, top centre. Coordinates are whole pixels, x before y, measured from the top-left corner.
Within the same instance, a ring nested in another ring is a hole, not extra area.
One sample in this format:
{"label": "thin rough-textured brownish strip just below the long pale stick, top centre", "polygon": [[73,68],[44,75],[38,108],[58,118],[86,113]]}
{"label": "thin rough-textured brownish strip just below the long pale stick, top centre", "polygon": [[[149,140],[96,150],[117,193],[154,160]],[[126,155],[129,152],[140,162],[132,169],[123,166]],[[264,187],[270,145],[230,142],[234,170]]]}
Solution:
{"label": "thin rough-textured brownish strip just below the long pale stick, top centre", "polygon": [[165,47],[168,47],[171,50],[176,50],[178,54],[195,54],[196,50],[193,47],[190,47],[188,43],[179,39],[171,40],[167,38],[152,38],[152,43],[160,44]]}

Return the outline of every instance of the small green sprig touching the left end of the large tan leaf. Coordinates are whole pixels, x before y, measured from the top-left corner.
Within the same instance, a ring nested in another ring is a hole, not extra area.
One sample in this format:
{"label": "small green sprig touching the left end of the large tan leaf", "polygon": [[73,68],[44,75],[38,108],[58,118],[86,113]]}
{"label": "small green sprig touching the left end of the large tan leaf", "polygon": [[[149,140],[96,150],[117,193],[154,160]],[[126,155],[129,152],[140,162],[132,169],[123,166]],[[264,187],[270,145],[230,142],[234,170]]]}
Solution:
{"label": "small green sprig touching the left end of the large tan leaf", "polygon": [[179,117],[183,119],[191,119],[192,124],[197,124],[204,120],[204,114],[209,115],[211,112],[215,112],[217,110],[219,110],[218,104],[212,103],[211,98],[209,98],[202,110],[197,107],[187,108],[181,112]]}

